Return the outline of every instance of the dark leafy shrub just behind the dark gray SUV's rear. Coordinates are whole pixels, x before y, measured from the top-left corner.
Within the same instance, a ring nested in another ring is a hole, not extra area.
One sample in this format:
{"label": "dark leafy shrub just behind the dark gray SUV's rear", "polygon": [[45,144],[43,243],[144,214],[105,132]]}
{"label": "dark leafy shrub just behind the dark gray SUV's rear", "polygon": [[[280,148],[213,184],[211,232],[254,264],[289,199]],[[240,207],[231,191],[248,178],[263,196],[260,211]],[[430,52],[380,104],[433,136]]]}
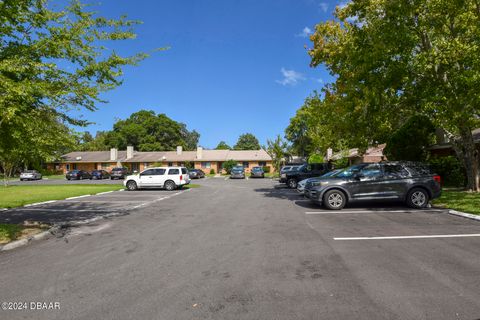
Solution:
{"label": "dark leafy shrub just behind the dark gray SUV's rear", "polygon": [[433,157],[428,162],[433,172],[440,175],[445,186],[465,186],[465,170],[463,169],[461,162],[458,161],[456,157]]}

